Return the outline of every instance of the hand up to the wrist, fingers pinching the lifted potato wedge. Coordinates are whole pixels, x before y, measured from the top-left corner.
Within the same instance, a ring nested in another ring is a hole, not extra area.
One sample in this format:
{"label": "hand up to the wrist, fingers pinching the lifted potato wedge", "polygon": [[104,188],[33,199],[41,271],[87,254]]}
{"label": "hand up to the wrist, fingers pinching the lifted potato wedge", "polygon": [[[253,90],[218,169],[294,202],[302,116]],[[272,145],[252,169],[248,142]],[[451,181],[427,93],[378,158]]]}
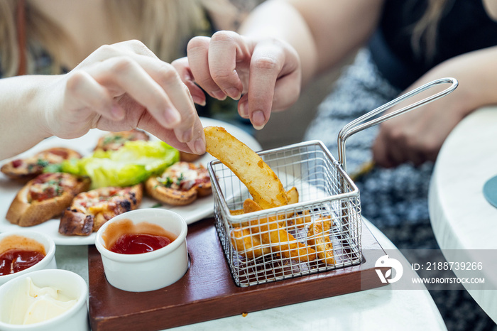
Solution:
{"label": "hand up to the wrist, fingers pinching the lifted potato wedge", "polygon": [[95,50],[50,86],[47,100],[47,131],[60,138],[138,127],[183,151],[205,151],[202,124],[178,72],[137,40]]}

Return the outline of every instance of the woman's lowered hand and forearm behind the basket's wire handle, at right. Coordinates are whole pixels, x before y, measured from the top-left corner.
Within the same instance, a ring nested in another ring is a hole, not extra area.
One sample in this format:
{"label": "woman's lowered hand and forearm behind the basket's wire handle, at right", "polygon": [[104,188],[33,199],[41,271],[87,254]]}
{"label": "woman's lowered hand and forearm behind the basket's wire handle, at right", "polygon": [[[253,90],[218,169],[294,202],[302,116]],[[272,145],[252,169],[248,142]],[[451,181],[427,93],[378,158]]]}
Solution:
{"label": "woman's lowered hand and forearm behind the basket's wire handle, at right", "polygon": [[466,53],[437,65],[409,87],[408,91],[443,77],[455,77],[459,81],[451,94],[383,122],[373,144],[376,163],[395,167],[405,162],[420,165],[435,161],[442,143],[464,116],[486,104],[497,103],[494,92],[497,78],[488,70],[496,65],[496,58],[497,47]]}

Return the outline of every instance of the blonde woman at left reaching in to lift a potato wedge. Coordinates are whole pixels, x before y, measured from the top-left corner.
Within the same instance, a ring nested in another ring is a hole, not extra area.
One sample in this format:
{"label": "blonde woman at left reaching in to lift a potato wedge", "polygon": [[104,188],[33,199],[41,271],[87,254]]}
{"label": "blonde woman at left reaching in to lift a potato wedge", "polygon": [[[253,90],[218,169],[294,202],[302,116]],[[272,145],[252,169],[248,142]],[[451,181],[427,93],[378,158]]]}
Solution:
{"label": "blonde woman at left reaching in to lift a potato wedge", "polygon": [[233,29],[249,9],[229,0],[0,1],[0,160],[95,127],[139,127],[204,153],[170,62],[192,36]]}

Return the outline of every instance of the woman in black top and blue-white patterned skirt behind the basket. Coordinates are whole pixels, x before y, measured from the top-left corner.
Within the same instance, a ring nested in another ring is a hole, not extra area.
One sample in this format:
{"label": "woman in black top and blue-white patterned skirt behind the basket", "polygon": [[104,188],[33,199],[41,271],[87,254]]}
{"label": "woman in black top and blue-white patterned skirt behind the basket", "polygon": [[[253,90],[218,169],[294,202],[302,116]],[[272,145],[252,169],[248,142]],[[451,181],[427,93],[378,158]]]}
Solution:
{"label": "woman in black top and blue-white patterned skirt behind the basket", "polygon": [[[457,78],[456,92],[347,143],[349,173],[377,165],[357,181],[363,215],[384,231],[412,227],[414,241],[418,227],[421,237],[430,227],[427,190],[444,139],[474,109],[497,102],[496,18],[491,0],[272,0],[239,33],[193,38],[176,63],[196,102],[204,92],[241,96],[239,114],[262,129],[302,85],[359,50],[305,135],[334,155],[339,129],[352,119],[426,82]],[[436,246],[430,238],[417,237],[415,246]]]}

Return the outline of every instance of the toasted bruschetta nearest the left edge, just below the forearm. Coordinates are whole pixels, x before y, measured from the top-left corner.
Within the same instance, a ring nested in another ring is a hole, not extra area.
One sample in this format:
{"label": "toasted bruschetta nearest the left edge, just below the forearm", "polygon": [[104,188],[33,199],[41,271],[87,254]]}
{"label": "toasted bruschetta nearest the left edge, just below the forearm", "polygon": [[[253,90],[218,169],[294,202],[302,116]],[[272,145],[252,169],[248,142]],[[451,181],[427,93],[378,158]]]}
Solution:
{"label": "toasted bruschetta nearest the left edge, just below the forearm", "polygon": [[30,158],[17,158],[5,163],[0,171],[12,179],[30,180],[43,173],[47,165],[62,163],[72,158],[81,158],[81,154],[70,148],[54,147],[36,153]]}

